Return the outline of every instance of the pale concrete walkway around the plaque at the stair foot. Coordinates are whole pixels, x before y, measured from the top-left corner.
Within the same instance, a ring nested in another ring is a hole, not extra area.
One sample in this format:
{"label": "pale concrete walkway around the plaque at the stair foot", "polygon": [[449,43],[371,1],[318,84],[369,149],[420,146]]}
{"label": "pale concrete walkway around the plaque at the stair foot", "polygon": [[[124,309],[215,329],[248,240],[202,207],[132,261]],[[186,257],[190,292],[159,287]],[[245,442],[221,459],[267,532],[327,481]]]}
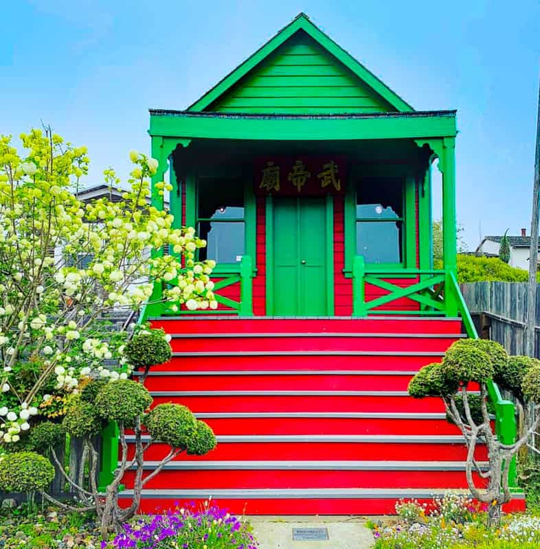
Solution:
{"label": "pale concrete walkway around the plaque at the stair foot", "polygon": [[[260,549],[369,549],[374,544],[364,517],[248,516]],[[293,528],[300,535],[314,537],[312,528],[328,528],[328,539],[293,540]]]}

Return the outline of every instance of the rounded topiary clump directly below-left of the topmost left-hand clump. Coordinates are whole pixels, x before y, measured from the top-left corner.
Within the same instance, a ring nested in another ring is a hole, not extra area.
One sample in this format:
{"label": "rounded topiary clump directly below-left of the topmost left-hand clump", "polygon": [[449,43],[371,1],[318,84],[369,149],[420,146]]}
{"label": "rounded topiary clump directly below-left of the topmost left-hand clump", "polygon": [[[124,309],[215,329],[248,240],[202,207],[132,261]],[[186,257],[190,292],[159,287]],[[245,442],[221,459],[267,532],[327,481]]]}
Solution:
{"label": "rounded topiary clump directly below-left of the topmost left-hand clump", "polygon": [[95,398],[95,410],[104,419],[131,423],[152,404],[148,389],[131,379],[109,382]]}

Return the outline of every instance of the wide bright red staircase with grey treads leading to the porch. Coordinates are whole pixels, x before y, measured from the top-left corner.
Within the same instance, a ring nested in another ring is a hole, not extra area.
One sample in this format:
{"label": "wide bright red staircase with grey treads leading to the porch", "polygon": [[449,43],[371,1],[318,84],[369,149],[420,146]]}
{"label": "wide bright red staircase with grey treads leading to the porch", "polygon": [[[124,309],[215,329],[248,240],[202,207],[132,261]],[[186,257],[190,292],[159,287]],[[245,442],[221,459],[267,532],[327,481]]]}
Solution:
{"label": "wide bright red staircase with grey treads leading to the porch", "polygon": [[[179,456],[142,511],[212,496],[247,514],[393,513],[396,499],[466,488],[466,449],[442,401],[407,384],[461,333],[455,318],[161,318],[174,356],[150,372],[155,404],[188,406],[216,449]],[[167,453],[153,445],[146,467]],[[477,459],[486,459],[480,447]],[[133,471],[124,477],[126,491]],[[478,480],[478,485],[481,481]]]}

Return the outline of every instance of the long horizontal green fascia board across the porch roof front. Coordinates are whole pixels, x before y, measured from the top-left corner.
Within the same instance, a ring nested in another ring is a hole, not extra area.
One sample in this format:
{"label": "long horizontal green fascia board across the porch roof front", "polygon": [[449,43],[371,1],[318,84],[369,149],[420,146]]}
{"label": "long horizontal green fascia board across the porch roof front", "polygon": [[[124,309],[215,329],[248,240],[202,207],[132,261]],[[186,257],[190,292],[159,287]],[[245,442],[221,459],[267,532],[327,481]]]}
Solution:
{"label": "long horizontal green fascia board across the porch roof front", "polygon": [[455,110],[357,115],[223,115],[150,110],[151,136],[177,139],[336,141],[455,137]]}

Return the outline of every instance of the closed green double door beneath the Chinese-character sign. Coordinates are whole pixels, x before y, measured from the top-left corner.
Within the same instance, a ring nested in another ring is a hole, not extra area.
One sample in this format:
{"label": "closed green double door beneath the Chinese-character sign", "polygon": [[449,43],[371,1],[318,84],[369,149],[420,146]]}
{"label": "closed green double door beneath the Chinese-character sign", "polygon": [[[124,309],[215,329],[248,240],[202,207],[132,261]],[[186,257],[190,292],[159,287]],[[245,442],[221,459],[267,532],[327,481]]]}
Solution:
{"label": "closed green double door beneath the Chinese-character sign", "polygon": [[273,314],[326,316],[328,266],[325,198],[273,202]]}

